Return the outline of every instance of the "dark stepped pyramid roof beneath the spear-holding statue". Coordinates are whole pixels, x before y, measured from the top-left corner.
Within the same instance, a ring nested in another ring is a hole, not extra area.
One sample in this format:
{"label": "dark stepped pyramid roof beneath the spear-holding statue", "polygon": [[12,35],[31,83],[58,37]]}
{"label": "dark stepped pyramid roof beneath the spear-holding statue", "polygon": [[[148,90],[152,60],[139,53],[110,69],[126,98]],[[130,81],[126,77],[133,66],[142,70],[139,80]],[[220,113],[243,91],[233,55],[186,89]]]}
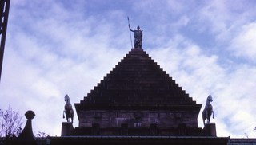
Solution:
{"label": "dark stepped pyramid roof beneath the spear-holding statue", "polygon": [[131,49],[126,57],[75,104],[80,108],[100,106],[197,106],[181,87],[143,49]]}

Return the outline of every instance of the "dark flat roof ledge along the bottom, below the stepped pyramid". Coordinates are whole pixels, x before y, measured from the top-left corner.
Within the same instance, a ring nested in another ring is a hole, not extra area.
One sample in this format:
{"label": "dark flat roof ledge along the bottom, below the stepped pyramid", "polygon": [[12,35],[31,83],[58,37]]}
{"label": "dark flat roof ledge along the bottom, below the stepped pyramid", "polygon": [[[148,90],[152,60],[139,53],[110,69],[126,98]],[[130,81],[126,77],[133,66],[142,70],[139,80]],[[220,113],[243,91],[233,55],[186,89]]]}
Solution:
{"label": "dark flat roof ledge along the bottom, below the stepped pyramid", "polygon": [[229,138],[184,136],[70,136],[50,137],[51,144],[218,144],[226,145]]}

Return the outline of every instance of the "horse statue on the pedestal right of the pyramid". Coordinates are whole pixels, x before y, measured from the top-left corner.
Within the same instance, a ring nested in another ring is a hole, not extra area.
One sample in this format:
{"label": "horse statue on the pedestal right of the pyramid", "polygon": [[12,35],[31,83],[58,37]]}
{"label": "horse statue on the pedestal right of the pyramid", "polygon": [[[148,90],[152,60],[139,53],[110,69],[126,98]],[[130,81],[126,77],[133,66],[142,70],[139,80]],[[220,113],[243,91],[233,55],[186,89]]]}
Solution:
{"label": "horse statue on the pedestal right of the pyramid", "polygon": [[207,123],[210,123],[210,116],[211,114],[213,114],[213,119],[214,119],[214,110],[213,110],[213,106],[210,104],[210,102],[213,101],[212,96],[208,96],[207,100],[206,100],[206,107],[205,109],[202,111],[202,121],[203,124],[205,125],[205,120],[207,119]]}

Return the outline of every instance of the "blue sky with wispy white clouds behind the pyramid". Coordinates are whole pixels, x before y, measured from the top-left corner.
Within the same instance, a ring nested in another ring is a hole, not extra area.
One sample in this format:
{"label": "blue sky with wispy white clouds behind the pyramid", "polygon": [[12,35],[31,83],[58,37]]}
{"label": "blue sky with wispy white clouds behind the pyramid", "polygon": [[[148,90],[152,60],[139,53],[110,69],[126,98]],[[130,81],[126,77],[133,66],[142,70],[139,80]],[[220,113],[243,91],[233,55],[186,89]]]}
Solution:
{"label": "blue sky with wispy white clouds behind the pyramid", "polygon": [[254,0],[11,0],[0,108],[33,110],[34,134],[61,135],[64,96],[74,108],[130,51],[129,16],[142,48],[202,109],[213,96],[218,136],[256,137],[255,8]]}

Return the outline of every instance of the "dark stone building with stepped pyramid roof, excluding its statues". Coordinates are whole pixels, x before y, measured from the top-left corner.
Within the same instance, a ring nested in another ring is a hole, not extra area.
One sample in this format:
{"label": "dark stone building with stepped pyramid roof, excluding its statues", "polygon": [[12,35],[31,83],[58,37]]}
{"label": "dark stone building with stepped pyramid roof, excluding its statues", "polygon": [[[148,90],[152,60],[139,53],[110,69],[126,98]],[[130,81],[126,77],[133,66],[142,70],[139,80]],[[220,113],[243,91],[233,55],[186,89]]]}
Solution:
{"label": "dark stone building with stepped pyramid roof, excluding its statues", "polygon": [[143,49],[126,57],[80,103],[78,127],[51,144],[227,144],[215,123],[198,127],[197,104]]}

